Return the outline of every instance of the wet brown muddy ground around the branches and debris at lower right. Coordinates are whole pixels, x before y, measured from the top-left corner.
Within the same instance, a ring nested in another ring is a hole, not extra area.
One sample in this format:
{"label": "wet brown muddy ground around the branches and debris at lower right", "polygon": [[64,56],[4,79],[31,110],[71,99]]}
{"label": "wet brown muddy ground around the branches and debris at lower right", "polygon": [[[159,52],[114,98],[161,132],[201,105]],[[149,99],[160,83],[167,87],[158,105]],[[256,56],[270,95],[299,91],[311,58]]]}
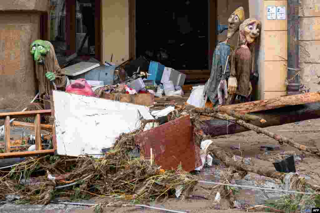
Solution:
{"label": "wet brown muddy ground around the branches and debris at lower right", "polygon": [[[267,128],[269,131],[281,134],[285,137],[292,138],[298,143],[308,145],[308,146],[317,146],[320,147],[320,119],[306,120],[303,122],[291,123],[282,126],[273,126]],[[318,130],[312,133],[299,133],[299,130]],[[276,159],[284,158],[285,154],[296,154],[302,156],[301,161],[296,161],[296,170],[300,175],[304,175],[306,179],[313,179],[316,183],[320,183],[320,161],[313,155],[307,153],[302,153],[296,148],[292,148],[289,145],[279,145],[278,142],[272,138],[269,138],[264,135],[258,135],[253,131],[248,131],[244,133],[238,133],[233,135],[220,136],[213,140],[215,144],[220,146],[226,151],[233,153],[234,155],[240,155],[239,150],[232,150],[233,147],[238,147],[240,144],[240,150],[243,157],[251,157],[253,163],[259,161],[259,166],[266,166],[273,168],[272,162]],[[262,145],[276,145],[279,147],[279,150],[265,151],[260,150]],[[210,149],[210,147],[209,147]],[[259,160],[260,159],[260,160]],[[261,161],[263,160],[263,161]],[[211,168],[205,168],[204,171],[200,172],[199,177],[203,180],[218,181],[215,171],[225,170],[226,168],[222,165],[217,166],[213,165]],[[264,177],[259,177],[259,175],[249,173],[251,179],[256,182],[264,181]],[[220,176],[221,177],[221,176]],[[277,180],[275,180],[277,182]],[[280,182],[277,182],[280,184]],[[214,203],[215,193],[211,188],[213,185],[198,184],[194,192],[195,195],[202,195],[208,200],[202,198],[192,198],[182,201],[181,199],[169,199],[165,202],[152,203],[158,208],[180,210],[185,212],[241,212],[240,209],[228,209],[233,208],[227,200],[221,200],[220,205]],[[266,187],[266,186],[265,186]],[[240,194],[236,194],[236,200],[244,200],[246,205],[255,205],[257,204],[257,193],[251,189],[240,189]],[[279,194],[276,192],[276,194]],[[100,202],[103,199],[98,199],[97,202]],[[243,206],[244,207],[244,206]],[[264,209],[260,209],[264,210]],[[126,208],[116,208],[116,207],[107,207],[104,212],[161,212],[158,210],[151,209],[141,209],[137,207],[126,207]],[[91,212],[91,210],[78,210],[74,212]]]}

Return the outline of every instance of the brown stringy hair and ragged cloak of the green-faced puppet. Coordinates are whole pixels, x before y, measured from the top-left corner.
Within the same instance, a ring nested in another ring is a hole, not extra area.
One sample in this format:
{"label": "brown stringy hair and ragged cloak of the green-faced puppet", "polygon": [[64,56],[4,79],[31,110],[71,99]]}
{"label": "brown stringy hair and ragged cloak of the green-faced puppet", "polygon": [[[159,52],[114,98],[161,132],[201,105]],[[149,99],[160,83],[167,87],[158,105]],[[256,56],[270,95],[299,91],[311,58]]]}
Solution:
{"label": "brown stringy hair and ragged cloak of the green-faced puppet", "polygon": [[46,72],[53,72],[58,76],[54,82],[57,86],[57,88],[63,88],[65,87],[67,83],[66,76],[63,76],[59,78],[60,74],[60,66],[58,64],[58,60],[56,57],[56,53],[54,51],[54,47],[52,46],[51,42],[47,42],[47,45],[50,46],[50,51],[47,53],[47,55],[44,57],[44,65],[38,64],[35,62],[35,69],[36,69],[36,78],[38,80],[39,85],[39,95],[44,94],[52,94],[53,85],[52,83],[45,77]]}

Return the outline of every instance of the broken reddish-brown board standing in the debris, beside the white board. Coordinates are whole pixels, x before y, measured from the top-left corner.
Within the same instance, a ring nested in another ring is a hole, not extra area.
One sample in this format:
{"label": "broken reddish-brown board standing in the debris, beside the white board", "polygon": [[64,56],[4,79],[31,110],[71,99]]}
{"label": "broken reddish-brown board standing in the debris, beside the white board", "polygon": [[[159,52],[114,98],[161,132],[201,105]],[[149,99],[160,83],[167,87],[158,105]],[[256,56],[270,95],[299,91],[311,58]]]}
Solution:
{"label": "broken reddish-brown board standing in the debris, beside the white board", "polygon": [[155,164],[163,169],[176,169],[181,163],[183,170],[193,171],[201,165],[189,115],[135,135],[135,143],[144,158],[150,158],[152,148]]}

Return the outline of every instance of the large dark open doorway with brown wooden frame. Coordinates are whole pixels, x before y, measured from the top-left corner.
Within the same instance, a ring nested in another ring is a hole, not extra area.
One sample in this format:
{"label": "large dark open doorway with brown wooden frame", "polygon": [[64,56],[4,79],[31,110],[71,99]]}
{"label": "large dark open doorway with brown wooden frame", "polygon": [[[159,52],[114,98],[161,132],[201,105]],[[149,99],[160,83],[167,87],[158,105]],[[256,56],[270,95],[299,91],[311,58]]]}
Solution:
{"label": "large dark open doorway with brown wooden frame", "polygon": [[216,5],[216,0],[129,0],[130,57],[144,56],[176,70],[203,70],[209,78]]}

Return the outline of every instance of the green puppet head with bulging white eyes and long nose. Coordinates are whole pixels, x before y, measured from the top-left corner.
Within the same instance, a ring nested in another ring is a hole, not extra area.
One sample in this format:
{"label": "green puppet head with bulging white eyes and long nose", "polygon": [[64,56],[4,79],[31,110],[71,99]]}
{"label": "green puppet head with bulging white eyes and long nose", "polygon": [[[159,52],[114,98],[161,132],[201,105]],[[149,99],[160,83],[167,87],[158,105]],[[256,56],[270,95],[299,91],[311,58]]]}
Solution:
{"label": "green puppet head with bulging white eyes and long nose", "polygon": [[43,40],[36,40],[30,45],[30,52],[33,55],[33,59],[39,63],[44,63],[44,57],[50,51],[50,43]]}

